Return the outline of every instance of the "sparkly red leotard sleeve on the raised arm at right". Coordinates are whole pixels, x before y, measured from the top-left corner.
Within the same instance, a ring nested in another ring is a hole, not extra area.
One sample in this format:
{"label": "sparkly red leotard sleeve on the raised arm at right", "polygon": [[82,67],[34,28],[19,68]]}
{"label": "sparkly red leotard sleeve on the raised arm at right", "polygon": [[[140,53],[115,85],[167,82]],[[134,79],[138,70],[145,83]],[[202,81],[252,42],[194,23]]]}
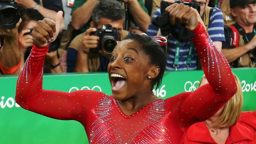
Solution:
{"label": "sparkly red leotard sleeve on the raised arm at right", "polygon": [[220,50],[199,24],[191,39],[209,84],[199,87],[194,92],[185,92],[171,97],[171,109],[176,123],[188,127],[193,123],[206,120],[214,115],[236,92],[237,85],[231,68]]}

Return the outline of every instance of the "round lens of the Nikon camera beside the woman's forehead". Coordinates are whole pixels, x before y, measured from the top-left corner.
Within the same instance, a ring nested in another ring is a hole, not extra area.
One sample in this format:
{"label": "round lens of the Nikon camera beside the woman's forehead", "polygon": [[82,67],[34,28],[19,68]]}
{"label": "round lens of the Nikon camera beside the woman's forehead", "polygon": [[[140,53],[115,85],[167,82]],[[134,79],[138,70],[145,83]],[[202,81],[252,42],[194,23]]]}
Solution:
{"label": "round lens of the Nikon camera beside the woman's forehead", "polygon": [[112,53],[116,44],[116,40],[112,36],[107,35],[101,42],[102,50],[106,53]]}

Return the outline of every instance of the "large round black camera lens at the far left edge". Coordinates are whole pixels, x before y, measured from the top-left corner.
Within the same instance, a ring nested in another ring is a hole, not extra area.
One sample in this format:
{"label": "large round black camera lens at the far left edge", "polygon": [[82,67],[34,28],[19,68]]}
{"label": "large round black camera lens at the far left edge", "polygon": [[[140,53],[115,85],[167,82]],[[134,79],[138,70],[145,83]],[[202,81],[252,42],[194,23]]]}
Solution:
{"label": "large round black camera lens at the far left edge", "polygon": [[0,24],[7,29],[15,28],[19,21],[17,9],[11,6],[0,7]]}

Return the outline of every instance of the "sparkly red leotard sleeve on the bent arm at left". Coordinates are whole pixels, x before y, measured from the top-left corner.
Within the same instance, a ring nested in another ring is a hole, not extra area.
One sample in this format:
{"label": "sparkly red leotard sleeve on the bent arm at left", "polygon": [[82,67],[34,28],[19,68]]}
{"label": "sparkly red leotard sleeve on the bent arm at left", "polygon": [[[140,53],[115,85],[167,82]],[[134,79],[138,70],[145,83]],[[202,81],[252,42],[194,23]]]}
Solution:
{"label": "sparkly red leotard sleeve on the bent arm at left", "polygon": [[43,90],[43,62],[48,46],[33,45],[17,80],[16,102],[29,111],[61,120],[81,121],[94,100],[103,93],[90,90],[60,92]]}

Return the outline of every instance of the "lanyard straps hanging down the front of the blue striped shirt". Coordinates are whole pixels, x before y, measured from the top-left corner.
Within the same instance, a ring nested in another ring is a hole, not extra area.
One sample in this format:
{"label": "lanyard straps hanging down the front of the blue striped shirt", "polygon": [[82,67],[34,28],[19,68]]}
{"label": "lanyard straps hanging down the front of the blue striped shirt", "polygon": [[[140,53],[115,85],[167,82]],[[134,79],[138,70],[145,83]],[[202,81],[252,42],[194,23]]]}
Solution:
{"label": "lanyard straps hanging down the front of the blue striped shirt", "polygon": [[[181,43],[179,41],[176,41],[175,57],[174,57],[174,64],[173,64],[175,71],[177,71],[177,68],[179,67],[180,47],[181,47]],[[195,49],[195,47],[193,45],[193,42],[190,42],[188,56],[187,56],[187,62],[186,62],[187,69],[189,68],[189,66],[191,66],[191,59],[192,59],[192,55],[193,55],[192,53],[193,53],[194,49]]]}

